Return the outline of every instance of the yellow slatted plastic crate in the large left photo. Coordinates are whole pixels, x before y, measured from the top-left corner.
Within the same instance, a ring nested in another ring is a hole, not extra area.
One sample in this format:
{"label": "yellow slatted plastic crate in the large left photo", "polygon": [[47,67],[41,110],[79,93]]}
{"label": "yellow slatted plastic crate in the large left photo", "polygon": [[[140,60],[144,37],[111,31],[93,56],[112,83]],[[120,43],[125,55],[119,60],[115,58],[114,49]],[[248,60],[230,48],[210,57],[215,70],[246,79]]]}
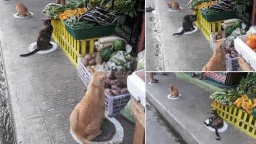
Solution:
{"label": "yellow slatted plastic crate in the large left photo", "polygon": [[63,50],[69,61],[77,67],[78,58],[84,57],[86,54],[96,52],[94,42],[98,38],[90,38],[86,40],[75,40],[65,28],[65,24],[61,20],[52,20],[53,39]]}

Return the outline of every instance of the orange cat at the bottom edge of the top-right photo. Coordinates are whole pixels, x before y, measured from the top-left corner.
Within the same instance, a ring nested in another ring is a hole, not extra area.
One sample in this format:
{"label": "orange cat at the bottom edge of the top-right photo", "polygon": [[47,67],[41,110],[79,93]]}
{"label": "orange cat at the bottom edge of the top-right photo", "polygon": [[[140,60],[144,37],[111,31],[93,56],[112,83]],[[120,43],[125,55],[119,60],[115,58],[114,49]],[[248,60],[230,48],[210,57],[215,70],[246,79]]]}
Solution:
{"label": "orange cat at the bottom edge of the top-right photo", "polygon": [[[214,55],[212,55],[211,59],[201,70],[205,71],[226,71],[226,57],[224,50],[224,40],[215,40],[215,50]],[[200,79],[203,78],[204,73],[201,73]]]}

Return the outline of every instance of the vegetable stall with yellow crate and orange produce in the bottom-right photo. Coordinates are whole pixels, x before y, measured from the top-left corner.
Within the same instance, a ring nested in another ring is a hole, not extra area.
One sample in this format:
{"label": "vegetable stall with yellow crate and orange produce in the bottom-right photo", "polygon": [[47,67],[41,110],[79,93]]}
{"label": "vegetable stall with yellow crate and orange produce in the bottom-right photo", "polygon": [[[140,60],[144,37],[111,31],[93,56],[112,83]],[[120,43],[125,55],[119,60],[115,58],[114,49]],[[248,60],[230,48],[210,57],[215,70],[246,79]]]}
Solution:
{"label": "vegetable stall with yellow crate and orange produce in the bottom-right photo", "polygon": [[[241,75],[241,73],[236,74],[236,77]],[[238,83],[236,87],[214,92],[210,99],[213,100],[212,109],[217,110],[221,118],[256,139],[255,76],[255,73],[247,73],[245,77],[236,81]]]}

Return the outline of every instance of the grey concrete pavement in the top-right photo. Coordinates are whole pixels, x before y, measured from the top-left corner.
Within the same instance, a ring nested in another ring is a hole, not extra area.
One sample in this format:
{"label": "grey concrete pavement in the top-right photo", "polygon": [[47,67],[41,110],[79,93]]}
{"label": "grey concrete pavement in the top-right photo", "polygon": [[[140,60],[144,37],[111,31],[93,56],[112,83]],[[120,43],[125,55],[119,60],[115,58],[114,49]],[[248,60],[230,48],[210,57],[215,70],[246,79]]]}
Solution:
{"label": "grey concrete pavement in the top-right photo", "polygon": [[168,1],[146,1],[146,6],[156,5],[155,11],[146,12],[146,71],[201,71],[212,56],[210,44],[199,30],[172,36],[192,11],[187,0],[177,0],[183,10],[169,11]]}

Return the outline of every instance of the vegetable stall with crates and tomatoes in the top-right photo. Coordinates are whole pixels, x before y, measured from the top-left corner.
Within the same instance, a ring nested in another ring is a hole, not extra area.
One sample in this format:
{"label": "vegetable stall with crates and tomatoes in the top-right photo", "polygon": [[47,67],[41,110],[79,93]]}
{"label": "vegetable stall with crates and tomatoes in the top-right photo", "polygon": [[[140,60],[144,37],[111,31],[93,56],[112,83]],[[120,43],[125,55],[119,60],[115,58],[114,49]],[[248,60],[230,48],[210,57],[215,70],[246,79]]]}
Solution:
{"label": "vegetable stall with crates and tomatoes in the top-right photo", "polygon": [[255,0],[190,0],[187,5],[212,50],[214,40],[225,40],[227,71],[256,69]]}

